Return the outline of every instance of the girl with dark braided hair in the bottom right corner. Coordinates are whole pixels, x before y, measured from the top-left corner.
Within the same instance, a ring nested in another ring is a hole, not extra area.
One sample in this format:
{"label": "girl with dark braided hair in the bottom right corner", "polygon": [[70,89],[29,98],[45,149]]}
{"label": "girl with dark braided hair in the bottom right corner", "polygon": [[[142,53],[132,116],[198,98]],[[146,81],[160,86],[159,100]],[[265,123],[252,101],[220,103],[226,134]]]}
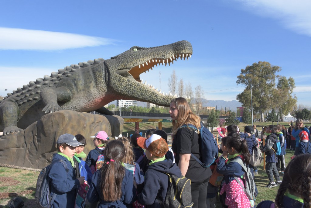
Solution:
{"label": "girl with dark braided hair in the bottom right corner", "polygon": [[297,155],[288,163],[273,203],[262,201],[257,208],[311,208],[311,154]]}

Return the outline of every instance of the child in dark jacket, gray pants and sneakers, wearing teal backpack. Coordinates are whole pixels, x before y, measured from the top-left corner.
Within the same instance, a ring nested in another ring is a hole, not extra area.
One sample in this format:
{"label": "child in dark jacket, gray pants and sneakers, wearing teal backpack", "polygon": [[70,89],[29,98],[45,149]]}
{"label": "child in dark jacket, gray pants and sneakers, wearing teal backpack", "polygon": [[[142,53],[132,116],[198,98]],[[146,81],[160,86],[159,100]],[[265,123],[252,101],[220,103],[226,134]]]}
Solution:
{"label": "child in dark jacket, gray pants and sneakers, wearing teal backpack", "polygon": [[[278,139],[278,137],[275,135],[276,133],[276,126],[275,125],[269,125],[266,129],[266,144],[261,148],[261,151],[266,154],[266,173],[269,178],[269,183],[266,187],[272,188],[276,187],[277,185],[281,184],[281,179],[279,176],[279,172],[276,168],[276,162],[277,157],[275,153],[276,149],[276,142],[275,140]],[[276,179],[276,182],[274,182],[274,178]]]}

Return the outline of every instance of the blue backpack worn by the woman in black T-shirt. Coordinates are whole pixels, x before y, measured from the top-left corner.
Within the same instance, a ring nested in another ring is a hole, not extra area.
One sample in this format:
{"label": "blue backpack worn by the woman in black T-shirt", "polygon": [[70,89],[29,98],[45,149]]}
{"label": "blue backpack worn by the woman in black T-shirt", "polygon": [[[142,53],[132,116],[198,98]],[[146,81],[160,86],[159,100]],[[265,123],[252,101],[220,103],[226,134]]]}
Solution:
{"label": "blue backpack worn by the woman in black T-shirt", "polygon": [[[195,130],[198,130],[195,125],[186,124],[181,127],[188,126]],[[180,128],[181,128],[180,127]],[[218,145],[216,139],[214,138],[213,134],[204,127],[203,123],[201,122],[201,129],[199,129],[199,146],[200,146],[200,154],[201,154],[201,161],[191,153],[191,156],[197,160],[203,168],[210,167],[215,160],[218,158]]]}

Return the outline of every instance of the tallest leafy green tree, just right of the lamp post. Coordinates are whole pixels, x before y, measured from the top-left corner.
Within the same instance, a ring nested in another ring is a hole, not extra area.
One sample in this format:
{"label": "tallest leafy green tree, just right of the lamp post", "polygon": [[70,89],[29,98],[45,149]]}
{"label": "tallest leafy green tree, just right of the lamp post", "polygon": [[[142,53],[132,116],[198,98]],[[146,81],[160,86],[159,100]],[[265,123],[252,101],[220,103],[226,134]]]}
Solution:
{"label": "tallest leafy green tree, just right of the lamp post", "polygon": [[272,89],[275,88],[276,72],[279,71],[281,71],[279,66],[272,66],[269,62],[262,61],[241,69],[236,83],[244,84],[245,89],[236,96],[237,100],[243,107],[251,108],[252,88],[253,111],[262,115],[262,112],[269,109],[270,99],[273,99]]}

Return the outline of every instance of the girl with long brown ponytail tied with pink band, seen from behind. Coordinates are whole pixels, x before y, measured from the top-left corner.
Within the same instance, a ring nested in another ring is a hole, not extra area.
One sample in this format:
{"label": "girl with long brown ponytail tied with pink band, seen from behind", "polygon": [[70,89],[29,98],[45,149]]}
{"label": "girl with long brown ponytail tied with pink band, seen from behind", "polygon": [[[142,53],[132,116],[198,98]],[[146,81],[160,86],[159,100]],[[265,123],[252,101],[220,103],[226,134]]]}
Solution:
{"label": "girl with long brown ponytail tied with pink band, seen from behind", "polygon": [[94,173],[87,192],[89,202],[100,201],[100,208],[126,207],[135,197],[132,172],[122,166],[124,144],[111,140],[104,150],[104,165]]}

